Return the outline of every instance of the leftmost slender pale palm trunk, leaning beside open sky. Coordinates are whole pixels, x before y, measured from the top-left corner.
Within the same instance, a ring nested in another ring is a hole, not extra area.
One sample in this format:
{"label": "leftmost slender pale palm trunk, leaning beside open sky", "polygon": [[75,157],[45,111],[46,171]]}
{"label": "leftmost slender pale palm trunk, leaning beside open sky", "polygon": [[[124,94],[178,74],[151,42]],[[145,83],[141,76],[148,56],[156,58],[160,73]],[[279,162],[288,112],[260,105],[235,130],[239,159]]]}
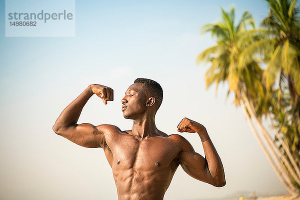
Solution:
{"label": "leftmost slender pale palm trunk, leaning beside open sky", "polygon": [[279,180],[281,181],[281,183],[283,184],[283,186],[286,188],[286,190],[288,191],[288,193],[293,193],[293,191],[289,188],[288,184],[286,183],[286,181],[282,177],[280,171],[278,170],[278,168],[277,168],[274,160],[271,158],[269,152],[265,148],[263,142],[261,141],[261,138],[259,137],[259,135],[258,135],[258,133],[257,133],[257,131],[256,131],[256,129],[255,129],[255,127],[254,127],[254,125],[253,125],[253,123],[252,123],[252,121],[251,121],[248,113],[247,113],[247,111],[246,111],[246,108],[244,106],[244,102],[241,99],[239,100],[239,104],[241,105],[241,108],[242,108],[242,110],[244,112],[244,116],[245,116],[248,124],[250,125],[250,128],[251,128],[252,132],[254,133],[255,138],[257,139],[257,141],[258,141],[260,147],[262,148],[264,154],[266,155],[267,159],[271,163],[271,166],[273,167],[273,169],[274,169],[277,177],[279,178]]}

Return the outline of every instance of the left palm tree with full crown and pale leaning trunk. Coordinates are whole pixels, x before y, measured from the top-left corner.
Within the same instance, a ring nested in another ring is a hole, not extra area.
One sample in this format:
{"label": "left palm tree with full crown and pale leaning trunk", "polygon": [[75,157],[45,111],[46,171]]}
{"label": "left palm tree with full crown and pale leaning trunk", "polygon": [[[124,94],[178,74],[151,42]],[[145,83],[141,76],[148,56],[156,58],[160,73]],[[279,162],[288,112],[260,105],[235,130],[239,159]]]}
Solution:
{"label": "left palm tree with full crown and pale leaning trunk", "polygon": [[[299,188],[295,186],[300,185],[300,178],[261,123],[261,116],[269,114],[268,108],[272,102],[272,98],[269,97],[269,93],[272,92],[267,92],[266,87],[261,84],[264,74],[259,66],[261,56],[257,57],[254,54],[241,56],[249,51],[249,46],[253,42],[263,40],[268,32],[261,31],[257,33],[255,30],[247,30],[248,26],[254,28],[253,17],[247,11],[243,13],[241,19],[235,25],[235,9],[231,8],[229,12],[224,11],[222,8],[221,10],[222,20],[220,22],[203,26],[203,32],[210,32],[212,36],[216,36],[216,45],[207,48],[197,56],[197,61],[211,63],[205,73],[206,87],[215,82],[217,89],[219,82],[226,81],[228,83],[228,94],[230,92],[234,93],[235,104],[241,105],[244,110],[245,117],[276,174],[286,189],[295,197],[300,193]],[[253,32],[256,33],[252,34]],[[249,34],[252,36],[247,37],[246,35]],[[262,142],[262,138],[258,136],[251,118],[258,126],[266,147]],[[290,174],[293,175],[293,179]]]}

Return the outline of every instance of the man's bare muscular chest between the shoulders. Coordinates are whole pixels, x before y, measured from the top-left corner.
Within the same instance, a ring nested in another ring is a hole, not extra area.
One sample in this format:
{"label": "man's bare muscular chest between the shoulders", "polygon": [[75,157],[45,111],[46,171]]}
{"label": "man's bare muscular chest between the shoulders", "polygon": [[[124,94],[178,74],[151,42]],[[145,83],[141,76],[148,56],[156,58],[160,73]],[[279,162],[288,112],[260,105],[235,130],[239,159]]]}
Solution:
{"label": "man's bare muscular chest between the shoulders", "polygon": [[136,139],[126,134],[121,136],[118,142],[109,145],[113,169],[159,170],[169,166],[179,153],[179,148],[167,137]]}

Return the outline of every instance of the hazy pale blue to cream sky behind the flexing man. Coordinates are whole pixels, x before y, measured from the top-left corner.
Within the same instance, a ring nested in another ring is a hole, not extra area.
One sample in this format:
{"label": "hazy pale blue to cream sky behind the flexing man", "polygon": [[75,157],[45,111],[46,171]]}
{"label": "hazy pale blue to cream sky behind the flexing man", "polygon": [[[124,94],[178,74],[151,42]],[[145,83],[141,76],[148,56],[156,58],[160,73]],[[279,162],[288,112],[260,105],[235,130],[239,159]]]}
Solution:
{"label": "hazy pale blue to cream sky behind the flexing man", "polygon": [[[262,0],[76,1],[75,37],[5,37],[0,1],[0,198],[116,199],[111,168],[101,148],[85,148],[56,135],[62,109],[89,84],[114,89],[107,105],[92,96],[78,123],[111,123],[129,129],[121,98],[136,77],[158,81],[164,91],[157,127],[176,133],[182,117],[206,127],[224,165],[226,185],[216,188],[179,166],[165,199],[217,198],[236,191],[278,194],[279,182],[245,121],[225,101],[227,85],[205,89],[208,66],[196,55],[214,44],[201,26],[220,17],[220,6],[267,15]],[[28,5],[30,6],[30,5]],[[180,133],[202,154],[196,134]]]}

